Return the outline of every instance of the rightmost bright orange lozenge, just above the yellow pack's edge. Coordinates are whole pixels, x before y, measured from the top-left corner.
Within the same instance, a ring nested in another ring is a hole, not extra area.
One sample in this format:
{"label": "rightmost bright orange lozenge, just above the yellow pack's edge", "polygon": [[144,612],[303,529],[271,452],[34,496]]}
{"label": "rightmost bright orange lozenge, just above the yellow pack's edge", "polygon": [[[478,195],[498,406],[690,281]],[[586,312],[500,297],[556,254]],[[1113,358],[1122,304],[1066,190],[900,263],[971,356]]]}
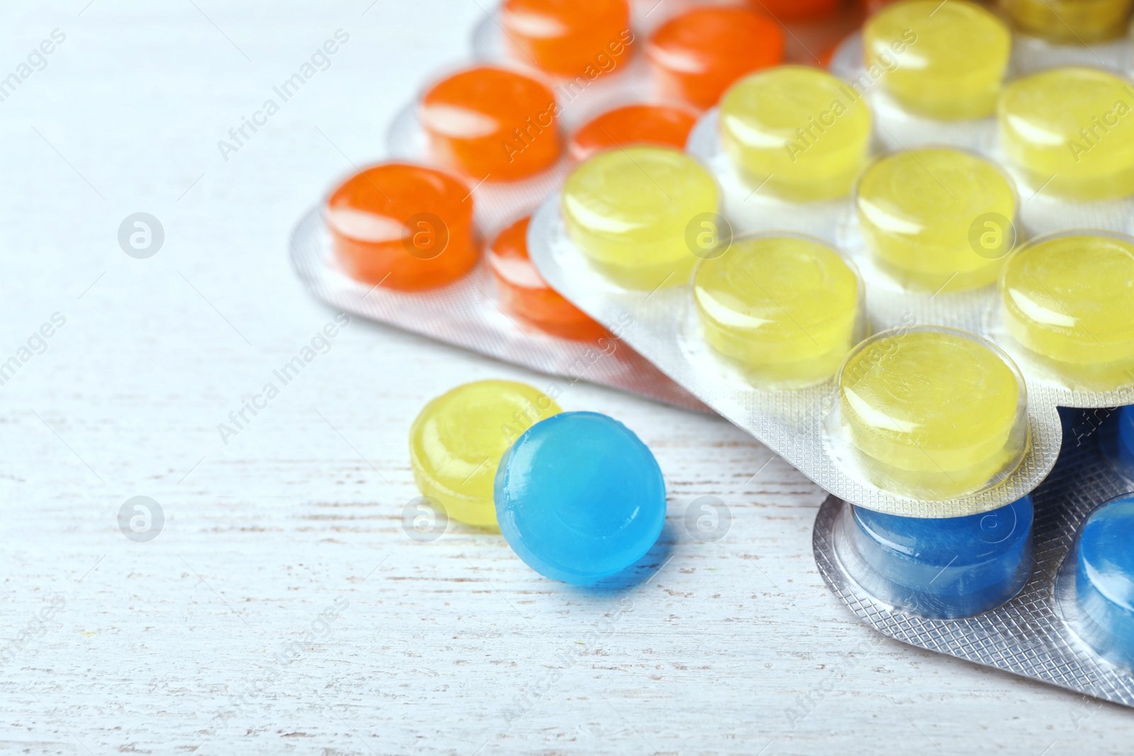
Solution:
{"label": "rightmost bright orange lozenge, just above the yellow pack's edge", "polygon": [[784,60],[784,29],[744,8],[695,8],[658,27],[645,54],[663,92],[711,108],[736,79]]}

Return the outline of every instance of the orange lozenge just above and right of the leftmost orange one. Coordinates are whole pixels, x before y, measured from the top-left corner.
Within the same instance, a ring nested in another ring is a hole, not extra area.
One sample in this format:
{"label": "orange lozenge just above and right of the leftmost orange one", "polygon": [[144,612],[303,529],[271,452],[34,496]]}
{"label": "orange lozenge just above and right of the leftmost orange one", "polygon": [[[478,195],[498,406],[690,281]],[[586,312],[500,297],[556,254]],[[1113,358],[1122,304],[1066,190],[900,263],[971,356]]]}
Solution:
{"label": "orange lozenge just above and right of the leftmost orange one", "polygon": [[434,84],[421,103],[433,156],[475,181],[508,181],[559,159],[551,90],[534,78],[482,66]]}

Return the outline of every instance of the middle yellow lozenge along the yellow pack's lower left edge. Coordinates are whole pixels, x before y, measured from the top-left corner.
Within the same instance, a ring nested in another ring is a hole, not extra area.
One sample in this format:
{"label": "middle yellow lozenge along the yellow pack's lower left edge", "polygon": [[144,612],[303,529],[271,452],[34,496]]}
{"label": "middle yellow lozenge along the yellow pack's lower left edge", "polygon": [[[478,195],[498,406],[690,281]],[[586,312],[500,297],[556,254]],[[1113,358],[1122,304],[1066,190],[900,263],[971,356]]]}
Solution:
{"label": "middle yellow lozenge along the yellow pack's lower left edge", "polygon": [[799,237],[736,241],[693,277],[705,341],[753,382],[776,388],[835,375],[858,337],[858,297],[846,261]]}

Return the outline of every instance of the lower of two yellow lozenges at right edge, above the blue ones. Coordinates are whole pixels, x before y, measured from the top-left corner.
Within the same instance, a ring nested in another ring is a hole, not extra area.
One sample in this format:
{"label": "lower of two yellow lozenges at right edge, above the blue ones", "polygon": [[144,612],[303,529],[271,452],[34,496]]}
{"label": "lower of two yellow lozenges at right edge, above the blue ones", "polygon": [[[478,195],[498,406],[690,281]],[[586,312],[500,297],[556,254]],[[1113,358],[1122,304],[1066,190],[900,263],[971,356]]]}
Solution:
{"label": "lower of two yellow lozenges at right edge, above the blue ones", "polygon": [[1075,382],[1134,383],[1134,239],[1073,232],[1013,254],[1000,278],[1004,323]]}

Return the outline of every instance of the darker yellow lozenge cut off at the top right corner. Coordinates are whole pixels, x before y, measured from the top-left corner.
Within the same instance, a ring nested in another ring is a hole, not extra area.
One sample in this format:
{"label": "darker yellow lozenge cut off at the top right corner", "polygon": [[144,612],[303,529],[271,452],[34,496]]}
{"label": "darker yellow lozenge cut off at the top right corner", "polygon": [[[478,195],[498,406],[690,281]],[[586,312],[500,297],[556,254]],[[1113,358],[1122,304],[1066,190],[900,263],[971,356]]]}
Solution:
{"label": "darker yellow lozenge cut off at the top right corner", "polygon": [[1000,0],[1022,32],[1066,44],[1123,36],[1132,6],[1134,0]]}

